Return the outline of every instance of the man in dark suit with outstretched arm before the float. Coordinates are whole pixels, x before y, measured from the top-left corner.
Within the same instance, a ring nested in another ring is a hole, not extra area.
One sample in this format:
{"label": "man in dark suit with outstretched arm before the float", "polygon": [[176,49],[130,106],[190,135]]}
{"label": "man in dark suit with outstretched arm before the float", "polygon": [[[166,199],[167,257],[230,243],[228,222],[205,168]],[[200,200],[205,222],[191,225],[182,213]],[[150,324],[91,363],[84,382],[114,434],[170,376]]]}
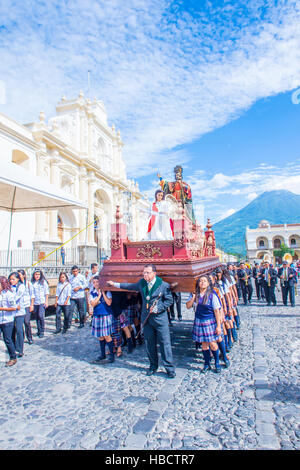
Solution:
{"label": "man in dark suit with outstretched arm before the float", "polygon": [[154,374],[158,369],[157,343],[159,343],[162,362],[167,376],[169,378],[175,377],[167,314],[167,308],[173,303],[169,284],[156,276],[156,267],[153,264],[146,264],[144,266],[143,279],[136,283],[108,281],[107,284],[120,289],[140,292],[143,301],[142,323],[150,313],[144,325],[144,338],[150,362],[147,375]]}

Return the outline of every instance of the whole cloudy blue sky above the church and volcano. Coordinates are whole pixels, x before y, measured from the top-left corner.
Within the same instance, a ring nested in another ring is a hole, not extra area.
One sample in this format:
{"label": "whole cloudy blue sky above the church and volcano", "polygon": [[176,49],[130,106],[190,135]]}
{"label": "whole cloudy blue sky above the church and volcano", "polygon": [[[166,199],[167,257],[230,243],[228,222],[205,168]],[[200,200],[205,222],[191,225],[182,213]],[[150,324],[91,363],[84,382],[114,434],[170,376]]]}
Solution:
{"label": "whole cloudy blue sky above the church and volcano", "polygon": [[265,190],[300,194],[299,2],[8,0],[0,18],[5,114],[53,116],[90,70],[150,196],[178,163],[200,222]]}

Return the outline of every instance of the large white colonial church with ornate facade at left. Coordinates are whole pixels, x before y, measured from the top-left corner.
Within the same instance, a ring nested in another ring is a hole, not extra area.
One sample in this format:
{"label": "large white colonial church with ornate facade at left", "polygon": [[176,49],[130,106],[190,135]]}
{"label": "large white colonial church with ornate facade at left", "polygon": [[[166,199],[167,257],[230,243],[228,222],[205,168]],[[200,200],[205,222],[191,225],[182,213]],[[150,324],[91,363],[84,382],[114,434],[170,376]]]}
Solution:
{"label": "large white colonial church with ornate facade at left", "polygon": [[[16,215],[11,248],[44,252],[74,237],[65,248],[80,251],[87,246],[89,260],[96,260],[97,250],[109,251],[110,224],[117,205],[124,221],[130,222],[129,237],[141,239],[147,221],[143,211],[149,202],[138,184],[126,176],[123,145],[120,131],[108,125],[103,102],[85,99],[82,92],[73,100],[62,97],[56,116],[48,121],[44,112],[38,122],[25,125],[0,114],[1,159],[21,165],[88,204],[88,211]],[[5,249],[8,214],[1,212],[1,218],[0,241]]]}

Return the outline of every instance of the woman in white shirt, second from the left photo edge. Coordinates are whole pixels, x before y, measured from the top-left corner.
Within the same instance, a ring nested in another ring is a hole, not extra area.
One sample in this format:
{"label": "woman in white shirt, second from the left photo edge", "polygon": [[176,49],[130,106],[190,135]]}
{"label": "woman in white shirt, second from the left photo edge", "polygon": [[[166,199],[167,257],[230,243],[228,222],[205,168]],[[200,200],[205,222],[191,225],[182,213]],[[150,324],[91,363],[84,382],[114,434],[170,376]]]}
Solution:
{"label": "woman in white shirt, second from the left photo edge", "polygon": [[12,292],[15,296],[15,301],[19,310],[17,310],[15,318],[14,318],[14,329],[13,329],[13,342],[15,345],[15,349],[17,357],[23,356],[24,350],[24,331],[23,325],[26,315],[25,304],[24,304],[24,293],[25,293],[25,286],[21,280],[21,276],[18,272],[13,272],[8,276],[8,281],[11,285]]}

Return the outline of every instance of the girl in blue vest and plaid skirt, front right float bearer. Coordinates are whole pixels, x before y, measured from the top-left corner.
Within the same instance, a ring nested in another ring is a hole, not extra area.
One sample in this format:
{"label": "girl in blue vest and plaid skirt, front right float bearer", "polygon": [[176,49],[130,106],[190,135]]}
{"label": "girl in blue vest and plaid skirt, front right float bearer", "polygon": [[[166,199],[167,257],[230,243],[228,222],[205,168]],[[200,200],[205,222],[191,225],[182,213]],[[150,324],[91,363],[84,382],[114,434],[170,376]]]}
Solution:
{"label": "girl in blue vest and plaid skirt, front right float bearer", "polygon": [[186,306],[191,308],[196,303],[193,326],[193,340],[202,343],[205,373],[210,367],[210,350],[215,359],[215,371],[221,372],[217,341],[221,335],[220,307],[221,303],[214,292],[209,276],[200,276],[196,283],[196,292],[191,294]]}

